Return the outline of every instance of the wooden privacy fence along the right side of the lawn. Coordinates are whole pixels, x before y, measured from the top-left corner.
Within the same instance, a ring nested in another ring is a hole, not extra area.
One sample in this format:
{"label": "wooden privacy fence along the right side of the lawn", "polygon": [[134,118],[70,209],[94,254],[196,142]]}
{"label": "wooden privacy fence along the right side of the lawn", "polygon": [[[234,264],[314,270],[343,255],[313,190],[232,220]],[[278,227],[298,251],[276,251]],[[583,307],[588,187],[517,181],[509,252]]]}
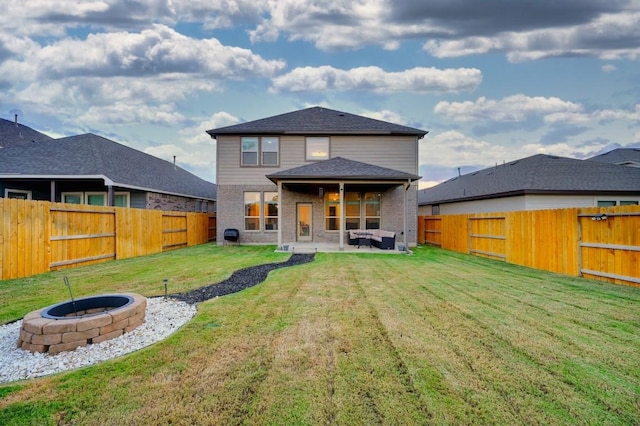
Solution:
{"label": "wooden privacy fence along the right side of the lawn", "polygon": [[640,206],[420,216],[419,242],[640,287]]}

